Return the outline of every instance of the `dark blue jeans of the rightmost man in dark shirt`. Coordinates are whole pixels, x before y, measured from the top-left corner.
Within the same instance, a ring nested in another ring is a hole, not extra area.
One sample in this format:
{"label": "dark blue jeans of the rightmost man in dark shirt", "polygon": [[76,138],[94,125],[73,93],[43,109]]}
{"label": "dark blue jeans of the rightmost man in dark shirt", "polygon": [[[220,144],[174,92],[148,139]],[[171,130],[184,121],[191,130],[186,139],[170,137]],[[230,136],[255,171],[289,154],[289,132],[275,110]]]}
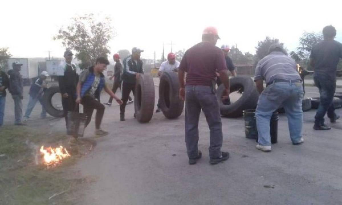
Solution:
{"label": "dark blue jeans of the rightmost man in dark shirt", "polygon": [[315,126],[324,124],[324,116],[327,113],[328,118],[335,117],[335,108],[332,103],[335,90],[336,81],[332,80],[329,76],[323,74],[314,75],[315,85],[318,87],[320,94],[320,102],[315,115]]}

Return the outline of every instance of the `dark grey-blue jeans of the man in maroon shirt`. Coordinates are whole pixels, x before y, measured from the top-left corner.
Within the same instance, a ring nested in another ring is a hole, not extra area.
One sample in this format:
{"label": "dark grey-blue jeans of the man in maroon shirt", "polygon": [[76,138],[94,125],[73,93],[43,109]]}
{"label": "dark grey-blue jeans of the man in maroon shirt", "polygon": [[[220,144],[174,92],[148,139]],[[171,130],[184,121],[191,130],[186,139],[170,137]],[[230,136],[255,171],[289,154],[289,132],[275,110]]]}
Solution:
{"label": "dark grey-blue jeans of the man in maroon shirt", "polygon": [[198,122],[201,110],[210,129],[209,156],[221,156],[223,141],[219,102],[210,86],[187,85],[185,87],[185,143],[188,157],[198,155]]}

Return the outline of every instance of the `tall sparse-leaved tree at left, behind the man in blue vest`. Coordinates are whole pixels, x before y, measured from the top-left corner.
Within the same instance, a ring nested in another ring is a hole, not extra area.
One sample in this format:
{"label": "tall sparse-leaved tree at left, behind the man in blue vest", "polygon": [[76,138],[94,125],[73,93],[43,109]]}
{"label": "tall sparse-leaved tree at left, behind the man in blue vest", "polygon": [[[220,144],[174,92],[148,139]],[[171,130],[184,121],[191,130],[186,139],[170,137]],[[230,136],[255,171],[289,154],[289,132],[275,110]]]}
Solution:
{"label": "tall sparse-leaved tree at left, behind the man in blue vest", "polygon": [[110,18],[96,20],[93,14],[87,14],[71,19],[73,23],[62,27],[54,40],[62,40],[63,46],[76,51],[80,68],[91,66],[99,56],[107,57],[108,42],[116,35]]}

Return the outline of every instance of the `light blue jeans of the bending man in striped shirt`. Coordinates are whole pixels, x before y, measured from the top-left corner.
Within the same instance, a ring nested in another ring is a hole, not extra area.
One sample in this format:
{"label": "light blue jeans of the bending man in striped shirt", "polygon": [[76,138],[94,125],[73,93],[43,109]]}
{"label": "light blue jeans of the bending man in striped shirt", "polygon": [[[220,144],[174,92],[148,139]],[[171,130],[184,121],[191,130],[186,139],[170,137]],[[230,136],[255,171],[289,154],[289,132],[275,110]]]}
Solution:
{"label": "light blue jeans of the bending man in striped shirt", "polygon": [[303,126],[303,96],[302,83],[277,82],[265,88],[259,97],[258,107],[255,112],[260,145],[271,145],[269,122],[273,112],[281,105],[284,106],[287,114],[292,143],[300,141]]}

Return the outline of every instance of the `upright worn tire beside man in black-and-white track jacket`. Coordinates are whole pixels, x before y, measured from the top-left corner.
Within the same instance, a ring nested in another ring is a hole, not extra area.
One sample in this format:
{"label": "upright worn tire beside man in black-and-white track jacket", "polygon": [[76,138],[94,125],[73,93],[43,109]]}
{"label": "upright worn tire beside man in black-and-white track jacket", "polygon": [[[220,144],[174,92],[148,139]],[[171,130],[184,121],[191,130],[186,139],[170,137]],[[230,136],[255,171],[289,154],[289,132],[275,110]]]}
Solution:
{"label": "upright worn tire beside man in black-and-white track jacket", "polygon": [[137,121],[149,122],[154,111],[155,91],[151,76],[140,74],[135,83],[134,110]]}

